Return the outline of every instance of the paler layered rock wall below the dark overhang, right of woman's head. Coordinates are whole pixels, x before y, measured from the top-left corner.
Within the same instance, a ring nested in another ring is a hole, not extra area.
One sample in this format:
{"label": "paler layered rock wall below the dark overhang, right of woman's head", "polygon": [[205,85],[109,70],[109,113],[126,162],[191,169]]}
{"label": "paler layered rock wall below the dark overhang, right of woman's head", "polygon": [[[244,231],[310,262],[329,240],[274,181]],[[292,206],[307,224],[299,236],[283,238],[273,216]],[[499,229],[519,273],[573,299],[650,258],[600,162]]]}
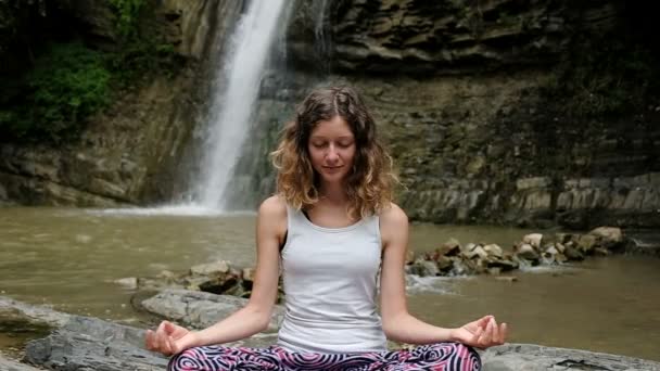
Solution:
{"label": "paler layered rock wall below the dark overhang, right of woman's head", "polygon": [[[657,118],[561,119],[551,72],[354,77],[399,169],[411,219],[585,230],[660,226]],[[647,137],[647,139],[643,138]],[[637,143],[637,144],[634,144]]]}

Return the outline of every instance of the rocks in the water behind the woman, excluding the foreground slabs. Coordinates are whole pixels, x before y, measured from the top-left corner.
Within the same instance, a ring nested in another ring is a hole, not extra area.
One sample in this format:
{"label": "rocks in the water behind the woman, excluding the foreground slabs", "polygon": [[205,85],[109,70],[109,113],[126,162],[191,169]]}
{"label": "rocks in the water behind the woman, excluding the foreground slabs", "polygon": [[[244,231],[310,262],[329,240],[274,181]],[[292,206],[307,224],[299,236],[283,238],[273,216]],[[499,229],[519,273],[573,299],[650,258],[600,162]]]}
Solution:
{"label": "rocks in the water behind the woman, excluding the foreground slabs", "polygon": [[[410,283],[408,285],[411,285],[415,277],[490,274],[500,280],[516,281],[517,278],[511,273],[528,267],[562,266],[594,256],[626,252],[639,254],[639,248],[647,250],[648,255],[660,256],[658,253],[660,250],[652,250],[649,246],[639,247],[637,240],[629,238],[620,228],[613,227],[599,227],[586,233],[530,233],[510,248],[487,242],[461,244],[456,239],[449,239],[432,252],[415,254],[409,251],[405,269]],[[163,270],[155,277],[128,277],[115,282],[136,292],[191,290],[245,298],[250,296],[252,290],[253,274],[252,267],[237,267],[230,261],[217,260],[193,266],[187,271]],[[280,287],[278,303],[282,300],[283,291]],[[183,312],[181,308],[173,309],[175,308],[173,305],[167,309],[161,309],[151,306],[150,303],[147,300],[147,305],[135,305],[135,307],[175,320]],[[191,310],[191,307],[187,307],[186,310]],[[208,307],[204,310],[215,312],[224,309]]]}

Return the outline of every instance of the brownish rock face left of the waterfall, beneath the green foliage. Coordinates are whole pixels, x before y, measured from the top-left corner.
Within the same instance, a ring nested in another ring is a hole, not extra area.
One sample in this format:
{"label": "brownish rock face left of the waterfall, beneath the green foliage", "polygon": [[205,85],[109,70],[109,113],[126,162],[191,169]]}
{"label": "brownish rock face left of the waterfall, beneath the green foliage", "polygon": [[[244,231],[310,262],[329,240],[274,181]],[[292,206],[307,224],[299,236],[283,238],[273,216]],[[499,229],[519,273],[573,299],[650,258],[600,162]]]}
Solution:
{"label": "brownish rock face left of the waterfall, beneath the green foliage", "polygon": [[[61,2],[90,44],[116,47],[110,2]],[[107,207],[170,197],[177,164],[206,99],[206,63],[214,60],[206,53],[215,55],[220,48],[214,37],[227,36],[241,2],[168,0],[156,5],[148,14],[150,22],[187,61],[185,66],[174,76],[154,76],[122,91],[113,106],[90,118],[78,141],[56,148],[1,144],[0,202]],[[13,18],[4,18],[4,11],[16,15],[8,7],[0,2],[0,20],[7,23]]]}

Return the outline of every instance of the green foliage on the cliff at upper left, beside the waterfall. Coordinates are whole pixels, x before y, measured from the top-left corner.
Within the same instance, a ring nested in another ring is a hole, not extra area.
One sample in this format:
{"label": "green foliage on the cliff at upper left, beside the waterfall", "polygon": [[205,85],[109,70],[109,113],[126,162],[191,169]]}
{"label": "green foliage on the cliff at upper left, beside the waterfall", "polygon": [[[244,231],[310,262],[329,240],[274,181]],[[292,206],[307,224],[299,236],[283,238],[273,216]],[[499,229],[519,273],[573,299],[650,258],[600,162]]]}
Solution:
{"label": "green foliage on the cliff at upper left, beside the waterfall", "polygon": [[35,50],[24,76],[2,77],[0,137],[3,140],[69,140],[86,119],[107,106],[118,88],[141,84],[152,74],[170,76],[175,48],[148,16],[153,1],[110,0],[117,15],[117,46],[100,52],[80,42],[49,42]]}

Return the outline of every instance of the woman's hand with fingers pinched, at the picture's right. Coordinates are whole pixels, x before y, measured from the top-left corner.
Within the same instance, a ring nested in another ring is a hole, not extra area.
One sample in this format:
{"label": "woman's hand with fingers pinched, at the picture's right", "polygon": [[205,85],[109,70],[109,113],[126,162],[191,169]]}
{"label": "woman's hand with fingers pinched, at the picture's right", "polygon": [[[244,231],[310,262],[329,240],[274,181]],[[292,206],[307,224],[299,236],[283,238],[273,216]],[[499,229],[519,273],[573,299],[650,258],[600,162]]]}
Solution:
{"label": "woman's hand with fingers pinched, at the picture's right", "polygon": [[495,317],[485,316],[458,329],[453,329],[452,338],[465,345],[485,349],[491,346],[503,345],[507,332],[506,323],[498,324]]}

